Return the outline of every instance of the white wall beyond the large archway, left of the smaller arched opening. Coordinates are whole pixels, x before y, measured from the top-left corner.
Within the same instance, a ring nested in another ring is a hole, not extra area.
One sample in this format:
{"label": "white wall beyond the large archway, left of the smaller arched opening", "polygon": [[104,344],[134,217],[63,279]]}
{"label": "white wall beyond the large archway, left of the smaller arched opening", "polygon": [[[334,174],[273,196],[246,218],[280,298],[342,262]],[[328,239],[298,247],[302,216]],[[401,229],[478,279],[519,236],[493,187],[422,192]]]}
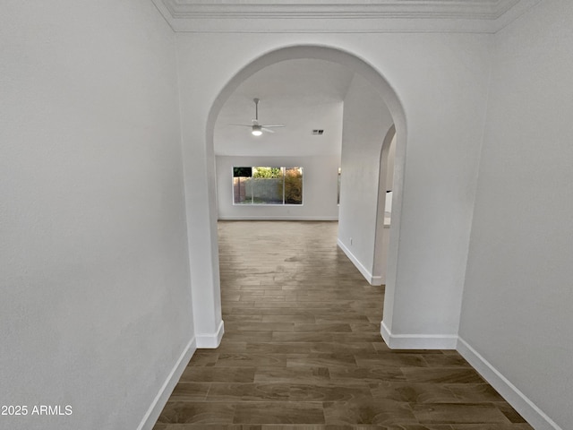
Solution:
{"label": "white wall beyond the large archway, left of the smaller arched opening", "polygon": [[344,100],[338,245],[366,280],[376,284],[380,284],[374,271],[374,232],[381,148],[393,122],[380,93],[355,74]]}

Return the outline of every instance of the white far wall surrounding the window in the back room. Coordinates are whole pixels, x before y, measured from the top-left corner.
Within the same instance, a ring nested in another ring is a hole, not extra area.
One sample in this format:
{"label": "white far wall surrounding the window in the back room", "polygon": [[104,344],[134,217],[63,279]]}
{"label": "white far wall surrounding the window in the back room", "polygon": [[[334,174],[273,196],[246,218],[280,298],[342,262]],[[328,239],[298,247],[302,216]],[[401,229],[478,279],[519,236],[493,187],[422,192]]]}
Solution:
{"label": "white far wall surrounding the window in the back room", "polygon": [[[338,219],[336,155],[311,157],[217,157],[218,219]],[[233,167],[303,168],[302,205],[233,204]]]}

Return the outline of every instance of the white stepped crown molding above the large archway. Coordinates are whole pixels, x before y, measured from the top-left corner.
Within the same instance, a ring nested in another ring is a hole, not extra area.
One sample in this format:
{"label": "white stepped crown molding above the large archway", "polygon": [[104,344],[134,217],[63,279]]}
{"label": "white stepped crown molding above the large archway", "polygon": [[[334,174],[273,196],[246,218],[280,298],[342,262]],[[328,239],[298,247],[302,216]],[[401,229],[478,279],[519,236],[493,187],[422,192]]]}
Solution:
{"label": "white stepped crown molding above the large archway", "polygon": [[495,32],[541,0],[152,0],[175,31]]}

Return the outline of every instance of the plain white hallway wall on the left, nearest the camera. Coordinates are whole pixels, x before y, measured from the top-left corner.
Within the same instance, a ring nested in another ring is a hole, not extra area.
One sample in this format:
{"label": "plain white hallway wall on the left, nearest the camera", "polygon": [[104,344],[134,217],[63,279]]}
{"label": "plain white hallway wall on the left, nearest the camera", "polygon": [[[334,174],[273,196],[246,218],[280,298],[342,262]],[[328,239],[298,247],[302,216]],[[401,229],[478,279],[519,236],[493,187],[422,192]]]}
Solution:
{"label": "plain white hallway wall on the left, nearest the camera", "polygon": [[151,2],[0,10],[0,427],[135,429],[193,336],[175,37]]}

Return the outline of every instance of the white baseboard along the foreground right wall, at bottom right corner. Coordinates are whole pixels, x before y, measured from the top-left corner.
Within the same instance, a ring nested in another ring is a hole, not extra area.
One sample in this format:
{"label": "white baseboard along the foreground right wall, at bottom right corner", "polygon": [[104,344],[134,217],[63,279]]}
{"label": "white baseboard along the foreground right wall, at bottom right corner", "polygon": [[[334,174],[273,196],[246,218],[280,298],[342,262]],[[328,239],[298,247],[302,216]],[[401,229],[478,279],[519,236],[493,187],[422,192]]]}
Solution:
{"label": "white baseboard along the foreground right wall, at bottom right corner", "polygon": [[563,430],[462,338],[458,338],[458,352],[535,430]]}

